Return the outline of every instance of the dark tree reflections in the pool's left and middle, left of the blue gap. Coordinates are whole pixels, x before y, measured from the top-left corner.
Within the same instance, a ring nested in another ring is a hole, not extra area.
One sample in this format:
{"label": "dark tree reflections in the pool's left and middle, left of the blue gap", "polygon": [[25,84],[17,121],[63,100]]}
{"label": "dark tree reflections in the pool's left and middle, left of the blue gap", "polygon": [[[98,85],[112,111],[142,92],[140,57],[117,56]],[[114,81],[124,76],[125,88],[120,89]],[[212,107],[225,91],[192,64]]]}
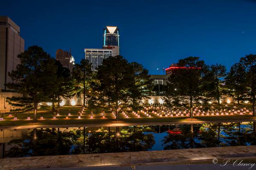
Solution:
{"label": "dark tree reflections in the pool's left and middle, left of the blue gap", "polygon": [[144,151],[155,144],[150,127],[133,127],[116,132],[85,133],[84,130],[35,129],[21,139],[14,139],[15,144],[7,157],[67,155],[80,153],[110,153],[126,151]]}

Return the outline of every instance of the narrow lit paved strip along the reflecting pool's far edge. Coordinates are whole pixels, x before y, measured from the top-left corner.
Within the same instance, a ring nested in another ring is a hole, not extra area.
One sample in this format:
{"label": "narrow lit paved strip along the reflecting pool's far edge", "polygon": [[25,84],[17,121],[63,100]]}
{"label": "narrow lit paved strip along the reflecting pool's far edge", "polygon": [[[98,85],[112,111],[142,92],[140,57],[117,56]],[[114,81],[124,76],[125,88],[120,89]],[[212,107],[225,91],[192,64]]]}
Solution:
{"label": "narrow lit paved strip along the reflecting pool's far edge", "polygon": [[0,129],[27,129],[27,128],[58,128],[58,127],[112,127],[112,126],[141,126],[141,125],[171,125],[171,124],[197,124],[197,123],[226,123],[226,122],[256,122],[251,119],[227,119],[227,120],[195,120],[182,122],[135,122],[135,123],[99,123],[99,124],[67,124],[67,125],[18,125],[0,126]]}

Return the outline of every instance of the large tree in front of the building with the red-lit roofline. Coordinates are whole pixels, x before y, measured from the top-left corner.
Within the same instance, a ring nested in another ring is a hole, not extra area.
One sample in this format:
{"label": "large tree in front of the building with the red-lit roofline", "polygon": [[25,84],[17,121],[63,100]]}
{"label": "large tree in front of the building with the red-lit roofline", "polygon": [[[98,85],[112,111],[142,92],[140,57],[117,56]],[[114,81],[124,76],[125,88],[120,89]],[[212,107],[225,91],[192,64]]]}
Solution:
{"label": "large tree in front of the building with the red-lit roofline", "polygon": [[206,65],[199,57],[180,59],[177,69],[168,77],[168,92],[163,99],[168,105],[175,103],[189,105],[190,116],[193,117],[193,105],[206,103],[208,77],[205,76]]}

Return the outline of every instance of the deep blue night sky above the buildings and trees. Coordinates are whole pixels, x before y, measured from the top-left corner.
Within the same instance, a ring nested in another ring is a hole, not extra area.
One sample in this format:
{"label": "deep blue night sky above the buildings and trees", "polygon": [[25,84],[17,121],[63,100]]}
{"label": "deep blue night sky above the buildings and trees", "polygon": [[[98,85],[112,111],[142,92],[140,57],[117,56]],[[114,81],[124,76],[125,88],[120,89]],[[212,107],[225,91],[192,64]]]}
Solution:
{"label": "deep blue night sky above the buildings and trees", "polygon": [[53,57],[71,48],[76,62],[84,48],[102,48],[104,26],[119,26],[121,55],[150,74],[188,56],[230,69],[256,54],[254,0],[65,1],[5,0],[0,15],[21,27],[25,48],[39,45]]}

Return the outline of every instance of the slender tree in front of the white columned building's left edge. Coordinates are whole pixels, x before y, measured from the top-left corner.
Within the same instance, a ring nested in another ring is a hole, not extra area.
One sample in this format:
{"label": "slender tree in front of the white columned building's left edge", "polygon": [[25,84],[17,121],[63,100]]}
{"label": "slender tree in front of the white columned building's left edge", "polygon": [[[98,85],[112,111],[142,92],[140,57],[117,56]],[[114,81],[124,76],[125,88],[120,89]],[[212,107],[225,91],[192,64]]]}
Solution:
{"label": "slender tree in front of the white columned building's left edge", "polygon": [[82,59],[73,69],[73,77],[76,80],[77,95],[83,94],[83,105],[85,106],[85,93],[90,88],[92,78],[91,63],[87,59]]}

